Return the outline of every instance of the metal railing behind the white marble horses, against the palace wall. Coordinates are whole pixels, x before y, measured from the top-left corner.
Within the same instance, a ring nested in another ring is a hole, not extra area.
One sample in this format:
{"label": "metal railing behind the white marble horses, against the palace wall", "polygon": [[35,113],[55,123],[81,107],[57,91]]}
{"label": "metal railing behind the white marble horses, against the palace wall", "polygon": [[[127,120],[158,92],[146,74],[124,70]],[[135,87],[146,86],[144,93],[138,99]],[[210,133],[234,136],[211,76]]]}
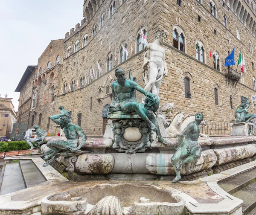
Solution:
{"label": "metal railing behind the white marble horses, against the palace wall", "polygon": [[231,127],[228,122],[208,122],[207,125],[200,125],[201,133],[208,136],[230,135]]}

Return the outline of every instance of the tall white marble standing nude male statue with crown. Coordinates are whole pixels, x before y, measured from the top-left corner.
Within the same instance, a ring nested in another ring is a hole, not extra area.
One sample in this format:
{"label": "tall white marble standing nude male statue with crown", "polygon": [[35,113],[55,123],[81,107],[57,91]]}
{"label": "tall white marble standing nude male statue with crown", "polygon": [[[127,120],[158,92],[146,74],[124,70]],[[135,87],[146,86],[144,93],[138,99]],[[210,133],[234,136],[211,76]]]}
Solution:
{"label": "tall white marble standing nude male statue with crown", "polygon": [[145,46],[144,54],[144,90],[157,96],[163,76],[167,76],[168,73],[165,49],[162,47],[164,38],[166,38],[166,32],[157,31],[154,42]]}

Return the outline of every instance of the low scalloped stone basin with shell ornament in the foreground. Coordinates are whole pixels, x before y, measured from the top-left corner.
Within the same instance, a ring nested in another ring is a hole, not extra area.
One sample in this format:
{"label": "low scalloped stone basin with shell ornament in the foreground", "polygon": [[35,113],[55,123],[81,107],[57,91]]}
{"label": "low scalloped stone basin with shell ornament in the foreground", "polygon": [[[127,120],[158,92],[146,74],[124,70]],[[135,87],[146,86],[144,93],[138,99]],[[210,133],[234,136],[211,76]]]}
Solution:
{"label": "low scalloped stone basin with shell ornament in the foreground", "polygon": [[41,214],[181,215],[184,200],[168,189],[119,183],[79,187],[42,199]]}

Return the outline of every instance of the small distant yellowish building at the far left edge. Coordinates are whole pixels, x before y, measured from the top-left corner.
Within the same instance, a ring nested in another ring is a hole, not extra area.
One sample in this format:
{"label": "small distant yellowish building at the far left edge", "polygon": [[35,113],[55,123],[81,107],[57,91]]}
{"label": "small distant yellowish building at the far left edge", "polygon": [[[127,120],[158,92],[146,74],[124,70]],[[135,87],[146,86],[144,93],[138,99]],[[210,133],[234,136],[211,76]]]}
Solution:
{"label": "small distant yellowish building at the far left edge", "polygon": [[12,98],[2,98],[0,96],[0,137],[12,137],[12,128],[16,119]]}

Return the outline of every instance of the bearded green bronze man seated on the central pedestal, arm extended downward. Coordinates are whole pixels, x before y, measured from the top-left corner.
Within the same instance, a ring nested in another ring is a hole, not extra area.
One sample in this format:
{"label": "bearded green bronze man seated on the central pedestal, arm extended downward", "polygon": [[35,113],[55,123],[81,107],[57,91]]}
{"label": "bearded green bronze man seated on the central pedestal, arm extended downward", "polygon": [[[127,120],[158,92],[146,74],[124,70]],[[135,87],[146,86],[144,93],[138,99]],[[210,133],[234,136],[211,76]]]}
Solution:
{"label": "bearded green bronze man seated on the central pedestal, arm extended downward", "polygon": [[[125,114],[131,114],[132,112],[136,112],[138,116],[147,122],[151,130],[157,133],[158,140],[163,144],[166,144],[166,141],[160,133],[157,119],[154,115],[154,112],[157,111],[160,105],[158,96],[145,91],[136,82],[134,82],[132,80],[131,73],[129,73],[130,80],[126,79],[125,71],[123,69],[117,68],[115,70],[115,76],[117,80],[111,83],[113,100],[109,107],[110,113],[122,111]],[[145,104],[142,104],[138,99],[136,99],[136,90],[146,96],[144,100]],[[119,114],[119,118],[117,119],[123,118],[124,116]],[[121,134],[122,131],[118,131],[118,133]]]}

